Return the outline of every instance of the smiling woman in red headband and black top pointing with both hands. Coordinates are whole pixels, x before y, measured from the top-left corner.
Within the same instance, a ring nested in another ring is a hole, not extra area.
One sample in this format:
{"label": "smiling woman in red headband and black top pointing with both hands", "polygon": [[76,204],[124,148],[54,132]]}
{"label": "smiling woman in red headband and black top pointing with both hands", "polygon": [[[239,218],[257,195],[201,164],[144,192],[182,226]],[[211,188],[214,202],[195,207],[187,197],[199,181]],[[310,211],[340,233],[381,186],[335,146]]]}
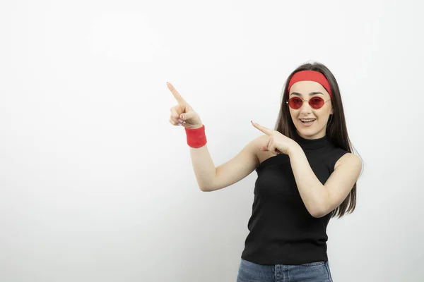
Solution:
{"label": "smiling woman in red headband and black top pointing with both hands", "polygon": [[237,281],[332,281],[326,226],[331,217],[355,209],[362,161],[352,153],[331,71],[322,63],[293,71],[285,82],[276,129],[252,122],[264,135],[217,168],[199,115],[167,85],[178,102],[170,123],[185,128],[202,191],[228,187],[257,171]]}

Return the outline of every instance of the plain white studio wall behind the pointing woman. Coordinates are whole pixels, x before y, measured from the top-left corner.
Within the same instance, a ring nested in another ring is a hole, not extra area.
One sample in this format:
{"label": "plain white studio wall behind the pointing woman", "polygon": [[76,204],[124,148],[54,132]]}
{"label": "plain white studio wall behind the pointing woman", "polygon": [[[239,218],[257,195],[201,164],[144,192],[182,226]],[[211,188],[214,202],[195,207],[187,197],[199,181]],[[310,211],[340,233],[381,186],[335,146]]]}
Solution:
{"label": "plain white studio wall behind the pointing woman", "polygon": [[334,281],[424,281],[419,1],[2,1],[0,281],[235,281],[257,173],[201,192],[176,89],[223,164],[319,61],[363,158]]}

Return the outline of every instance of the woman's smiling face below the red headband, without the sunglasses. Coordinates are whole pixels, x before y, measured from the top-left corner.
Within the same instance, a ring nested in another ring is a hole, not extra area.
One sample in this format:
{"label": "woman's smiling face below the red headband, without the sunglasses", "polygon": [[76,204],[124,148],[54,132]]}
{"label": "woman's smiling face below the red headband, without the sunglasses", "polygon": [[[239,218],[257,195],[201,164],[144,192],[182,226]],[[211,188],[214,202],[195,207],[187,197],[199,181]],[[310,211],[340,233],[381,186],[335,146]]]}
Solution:
{"label": "woman's smiling face below the red headband, without the sunglasses", "polygon": [[[312,94],[310,94],[312,93]],[[288,99],[292,97],[299,97],[303,100],[310,100],[313,97],[321,97],[324,103],[319,109],[314,109],[304,101],[300,109],[292,109],[290,106],[290,116],[295,124],[298,134],[305,139],[318,139],[325,136],[326,125],[329,120],[330,114],[334,113],[333,105],[329,92],[314,81],[299,81],[292,85],[290,88]],[[310,122],[302,122],[302,120],[310,120]]]}

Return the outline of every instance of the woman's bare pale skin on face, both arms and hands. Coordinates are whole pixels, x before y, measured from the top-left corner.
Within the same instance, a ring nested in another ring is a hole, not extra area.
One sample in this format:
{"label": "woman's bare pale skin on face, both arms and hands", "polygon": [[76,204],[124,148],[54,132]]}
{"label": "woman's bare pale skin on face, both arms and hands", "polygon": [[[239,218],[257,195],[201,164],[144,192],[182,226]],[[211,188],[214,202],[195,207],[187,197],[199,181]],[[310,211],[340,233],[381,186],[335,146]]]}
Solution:
{"label": "woman's bare pale skin on face, both arms and hands", "polygon": [[[178,121],[178,118],[181,118],[181,115],[186,113],[184,111],[186,108],[189,108],[189,111],[187,111],[189,116],[192,116],[196,121],[200,121],[199,116],[194,113],[191,106],[184,104],[187,102],[182,99],[175,87],[169,83],[168,88],[170,88],[178,102],[176,106],[171,108],[170,123],[172,125],[187,126],[188,124],[184,123],[184,121]],[[310,95],[310,93],[314,94]],[[324,87],[312,81],[301,81],[293,84],[290,88],[290,97],[293,96],[298,96],[302,99],[320,96],[325,101],[330,99],[329,93],[326,92]],[[334,111],[331,101],[326,102],[320,109],[312,109],[305,101],[300,109],[289,109],[298,134],[305,139],[323,137],[329,115],[333,114]],[[187,116],[187,114],[184,114],[184,116]],[[314,118],[315,121],[311,126],[305,127],[300,118]],[[218,167],[213,165],[210,154],[208,154],[207,145],[190,149],[194,171],[202,191],[211,192],[226,188],[248,176],[262,161],[274,157],[276,154],[287,154],[290,157],[290,164],[300,197],[307,211],[312,216],[317,218],[325,216],[346,199],[362,168],[362,161],[357,155],[347,153],[338,159],[334,166],[334,172],[331,173],[326,183],[322,185],[312,171],[305,153],[297,142],[276,130],[271,130],[253,122],[252,125],[264,135],[249,142],[235,157]],[[201,126],[201,123],[193,126],[193,128],[198,128],[199,126]]]}

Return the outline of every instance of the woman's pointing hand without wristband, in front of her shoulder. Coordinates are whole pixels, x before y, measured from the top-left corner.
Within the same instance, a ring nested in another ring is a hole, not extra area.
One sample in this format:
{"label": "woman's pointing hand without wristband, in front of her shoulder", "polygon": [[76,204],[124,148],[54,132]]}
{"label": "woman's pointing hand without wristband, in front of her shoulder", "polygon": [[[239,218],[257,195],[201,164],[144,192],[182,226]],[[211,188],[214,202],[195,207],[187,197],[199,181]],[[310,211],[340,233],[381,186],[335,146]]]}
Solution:
{"label": "woman's pointing hand without wristband, in front of her shoulder", "polygon": [[261,147],[261,151],[269,151],[273,154],[289,154],[290,150],[299,147],[295,140],[279,133],[277,130],[265,128],[258,123],[251,122],[255,128],[269,136],[268,146]]}

